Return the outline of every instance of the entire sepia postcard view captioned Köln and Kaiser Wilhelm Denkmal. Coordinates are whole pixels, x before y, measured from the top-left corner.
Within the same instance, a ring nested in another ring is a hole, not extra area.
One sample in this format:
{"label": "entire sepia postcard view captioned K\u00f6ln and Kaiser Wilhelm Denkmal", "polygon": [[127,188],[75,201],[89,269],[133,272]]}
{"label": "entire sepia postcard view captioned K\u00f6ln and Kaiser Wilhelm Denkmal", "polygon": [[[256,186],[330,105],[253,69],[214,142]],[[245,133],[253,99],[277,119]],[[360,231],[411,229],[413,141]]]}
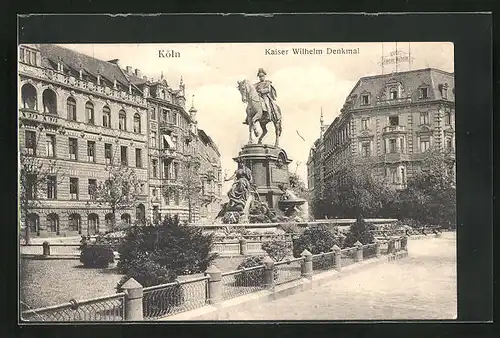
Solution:
{"label": "entire sepia postcard view captioned K\u00f6ln and Kaiser Wilhelm Denkmal", "polygon": [[457,319],[454,44],[20,43],[21,323]]}

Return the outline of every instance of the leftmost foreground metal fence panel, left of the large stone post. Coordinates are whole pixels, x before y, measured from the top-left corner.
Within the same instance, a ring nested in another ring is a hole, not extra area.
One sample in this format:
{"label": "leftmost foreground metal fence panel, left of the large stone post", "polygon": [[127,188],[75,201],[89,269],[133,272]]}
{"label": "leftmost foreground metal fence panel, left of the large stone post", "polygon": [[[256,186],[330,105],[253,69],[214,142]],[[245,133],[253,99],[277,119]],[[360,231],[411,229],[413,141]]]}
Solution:
{"label": "leftmost foreground metal fence panel, left of the large stone post", "polygon": [[125,320],[125,293],[24,311],[23,321],[101,322]]}

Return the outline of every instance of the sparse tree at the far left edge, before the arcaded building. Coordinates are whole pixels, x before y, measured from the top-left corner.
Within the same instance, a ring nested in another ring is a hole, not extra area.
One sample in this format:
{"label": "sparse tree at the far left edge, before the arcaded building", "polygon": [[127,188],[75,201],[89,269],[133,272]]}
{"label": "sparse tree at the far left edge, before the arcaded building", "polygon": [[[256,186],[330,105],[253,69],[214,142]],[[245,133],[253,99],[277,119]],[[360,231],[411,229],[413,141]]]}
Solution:
{"label": "sparse tree at the far left edge, before the arcaded building", "polygon": [[[35,141],[34,147],[38,144]],[[24,221],[24,241],[30,243],[29,215],[43,207],[49,182],[55,189],[64,179],[64,174],[56,160],[43,159],[30,154],[28,149],[21,149],[19,154],[19,206],[21,220]]]}

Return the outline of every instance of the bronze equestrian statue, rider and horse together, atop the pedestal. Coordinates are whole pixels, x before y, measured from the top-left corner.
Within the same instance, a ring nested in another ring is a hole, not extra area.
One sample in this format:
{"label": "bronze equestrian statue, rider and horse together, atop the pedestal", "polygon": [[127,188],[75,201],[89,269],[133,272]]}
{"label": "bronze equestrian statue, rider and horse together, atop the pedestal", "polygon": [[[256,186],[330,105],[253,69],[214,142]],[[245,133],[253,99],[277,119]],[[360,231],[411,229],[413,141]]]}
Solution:
{"label": "bronze equestrian statue, rider and horse together, atop the pedestal", "polygon": [[253,143],[252,131],[255,136],[259,137],[257,131],[257,122],[262,128],[258,143],[262,143],[262,139],[267,134],[267,123],[273,122],[276,131],[275,146],[279,145],[281,136],[281,109],[276,104],[277,93],[272,85],[272,82],[266,80],[266,71],[259,68],[257,76],[259,82],[251,84],[248,80],[238,81],[238,90],[241,94],[241,100],[247,103],[247,118],[244,124],[248,124],[248,143]]}

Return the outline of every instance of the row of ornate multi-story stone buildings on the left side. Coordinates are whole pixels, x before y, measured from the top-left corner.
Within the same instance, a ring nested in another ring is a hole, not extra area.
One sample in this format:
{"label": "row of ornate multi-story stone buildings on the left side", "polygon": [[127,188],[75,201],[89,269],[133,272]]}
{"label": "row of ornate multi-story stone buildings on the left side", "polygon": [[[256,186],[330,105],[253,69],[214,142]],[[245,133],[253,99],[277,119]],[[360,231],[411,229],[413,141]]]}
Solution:
{"label": "row of ornate multi-story stone buildings on the left side", "polygon": [[60,176],[49,177],[46,196],[28,215],[33,234],[106,230],[112,214],[90,192],[106,179],[106,166],[117,164],[132,167],[141,181],[137,205],[119,210],[117,221],[162,213],[187,219],[184,201],[161,194],[163,185],[176,184],[180,161],[198,149],[196,112],[185,111],[182,79],[173,90],[116,59],[56,45],[21,45],[18,64],[20,149],[55,160]]}

